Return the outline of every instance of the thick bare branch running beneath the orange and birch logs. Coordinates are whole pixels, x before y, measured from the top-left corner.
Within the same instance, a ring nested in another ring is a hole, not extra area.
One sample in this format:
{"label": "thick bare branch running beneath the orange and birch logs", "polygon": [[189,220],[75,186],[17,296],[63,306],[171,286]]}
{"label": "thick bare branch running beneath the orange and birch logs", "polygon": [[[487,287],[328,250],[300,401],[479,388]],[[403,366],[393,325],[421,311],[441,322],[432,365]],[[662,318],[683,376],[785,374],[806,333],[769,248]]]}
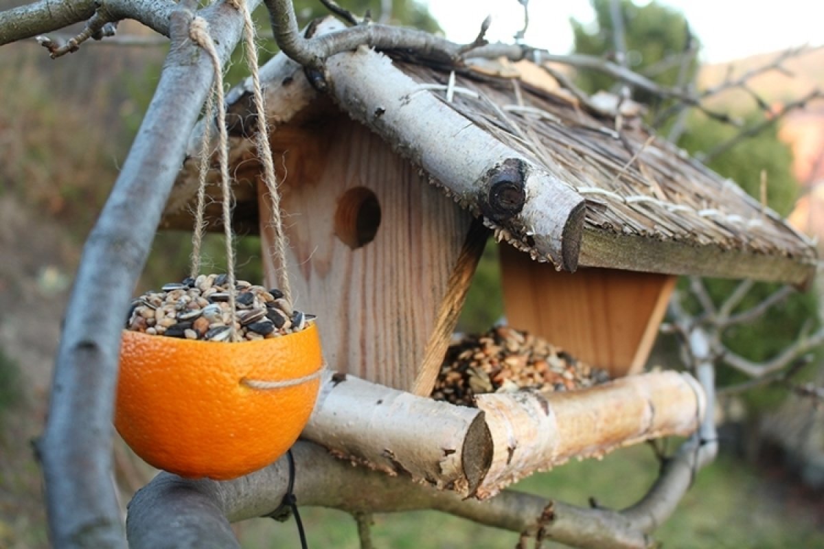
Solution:
{"label": "thick bare branch running beneath the orange and birch logs", "polygon": [[[298,472],[294,494],[301,505],[365,514],[435,509],[530,536],[543,528],[546,537],[574,547],[639,549],[651,544],[622,514],[608,509],[582,509],[517,491],[487,501],[464,500],[406,477],[352,467],[316,444],[298,442],[293,455]],[[287,483],[286,458],[228,482],[187,481],[161,473],[129,504],[129,547],[240,547],[229,523],[271,514]]]}

